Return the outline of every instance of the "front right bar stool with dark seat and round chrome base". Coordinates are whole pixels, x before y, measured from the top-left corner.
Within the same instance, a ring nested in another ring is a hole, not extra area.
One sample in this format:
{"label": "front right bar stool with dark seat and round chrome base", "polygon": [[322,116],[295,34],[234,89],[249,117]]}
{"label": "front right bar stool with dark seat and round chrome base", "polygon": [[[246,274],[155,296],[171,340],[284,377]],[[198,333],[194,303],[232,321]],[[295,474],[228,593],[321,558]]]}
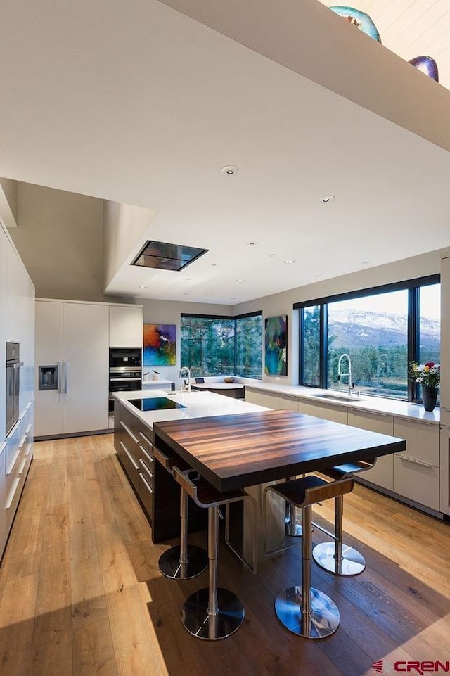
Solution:
{"label": "front right bar stool with dark seat and round chrome base", "polygon": [[323,639],[339,626],[338,607],[326,594],[311,587],[312,505],[353,490],[351,478],[328,482],[318,476],[306,476],[266,487],[286,502],[302,509],[302,587],[288,587],[275,600],[275,613],[290,632],[309,639]]}

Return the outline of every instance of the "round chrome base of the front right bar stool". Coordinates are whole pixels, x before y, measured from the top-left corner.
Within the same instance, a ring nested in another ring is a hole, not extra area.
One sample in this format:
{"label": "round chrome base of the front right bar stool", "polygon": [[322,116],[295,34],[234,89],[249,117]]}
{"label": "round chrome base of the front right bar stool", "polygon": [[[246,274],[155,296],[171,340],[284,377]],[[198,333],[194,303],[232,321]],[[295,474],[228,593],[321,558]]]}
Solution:
{"label": "round chrome base of the front right bar stool", "polygon": [[311,587],[311,613],[302,613],[302,587],[288,587],[275,599],[275,613],[293,634],[307,639],[324,639],[339,627],[339,611],[326,594]]}

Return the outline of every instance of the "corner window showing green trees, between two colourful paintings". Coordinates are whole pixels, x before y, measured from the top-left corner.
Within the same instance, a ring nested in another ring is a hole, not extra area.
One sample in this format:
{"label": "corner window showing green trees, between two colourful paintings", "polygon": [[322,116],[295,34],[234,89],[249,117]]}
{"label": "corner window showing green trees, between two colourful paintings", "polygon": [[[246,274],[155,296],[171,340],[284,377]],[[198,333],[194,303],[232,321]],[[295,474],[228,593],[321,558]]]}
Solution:
{"label": "corner window showing green trees, between two colourful paintings", "polygon": [[181,364],[192,376],[262,377],[262,313],[181,315]]}

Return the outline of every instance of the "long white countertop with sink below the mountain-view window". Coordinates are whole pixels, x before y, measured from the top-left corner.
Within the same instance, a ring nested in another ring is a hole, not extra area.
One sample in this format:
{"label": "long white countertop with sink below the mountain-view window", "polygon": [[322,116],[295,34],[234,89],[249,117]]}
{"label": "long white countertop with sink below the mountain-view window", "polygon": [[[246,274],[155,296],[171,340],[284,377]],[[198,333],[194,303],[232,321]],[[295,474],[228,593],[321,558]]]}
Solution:
{"label": "long white countertop with sink below the mountain-view window", "polygon": [[[245,389],[259,390],[267,394],[281,394],[289,397],[297,397],[310,404],[317,404],[318,406],[341,406],[347,407],[349,410],[365,411],[368,413],[381,413],[401,418],[409,418],[427,423],[435,423],[439,425],[440,409],[435,408],[434,411],[425,411],[422,404],[412,404],[411,402],[399,401],[394,399],[385,399],[384,397],[372,397],[362,394],[358,399],[354,395],[354,400],[348,402],[346,400],[339,401],[338,399],[324,400],[321,397],[314,395],[339,394],[336,390],[321,390],[319,388],[305,388],[300,385],[278,385],[277,383],[245,383]],[[342,390],[342,396],[347,396],[347,391]]]}

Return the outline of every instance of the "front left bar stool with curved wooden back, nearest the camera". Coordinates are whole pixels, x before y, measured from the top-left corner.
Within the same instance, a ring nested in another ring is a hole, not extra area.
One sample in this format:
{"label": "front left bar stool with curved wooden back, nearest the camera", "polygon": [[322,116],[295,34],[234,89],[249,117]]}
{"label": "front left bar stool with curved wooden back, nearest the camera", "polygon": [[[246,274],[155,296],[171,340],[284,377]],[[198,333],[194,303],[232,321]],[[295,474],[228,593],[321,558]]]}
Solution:
{"label": "front left bar stool with curved wooden back, nearest the camera", "polygon": [[[228,589],[217,587],[217,556],[219,549],[219,506],[228,506],[231,502],[250,500],[254,509],[254,532],[256,533],[256,504],[255,499],[245,490],[233,490],[221,493],[205,479],[201,478],[195,483],[189,476],[181,472],[178,467],[173,468],[174,480],[193,499],[195,504],[208,510],[208,559],[209,559],[209,587],[200,589],[186,599],[181,608],[181,622],[185,629],[197,637],[206,641],[217,641],[230,636],[243,623],[245,610],[242,602],[236,594]],[[253,548],[255,556],[255,546]],[[240,561],[248,566],[252,573],[256,572],[256,559],[252,565],[242,557]]]}

